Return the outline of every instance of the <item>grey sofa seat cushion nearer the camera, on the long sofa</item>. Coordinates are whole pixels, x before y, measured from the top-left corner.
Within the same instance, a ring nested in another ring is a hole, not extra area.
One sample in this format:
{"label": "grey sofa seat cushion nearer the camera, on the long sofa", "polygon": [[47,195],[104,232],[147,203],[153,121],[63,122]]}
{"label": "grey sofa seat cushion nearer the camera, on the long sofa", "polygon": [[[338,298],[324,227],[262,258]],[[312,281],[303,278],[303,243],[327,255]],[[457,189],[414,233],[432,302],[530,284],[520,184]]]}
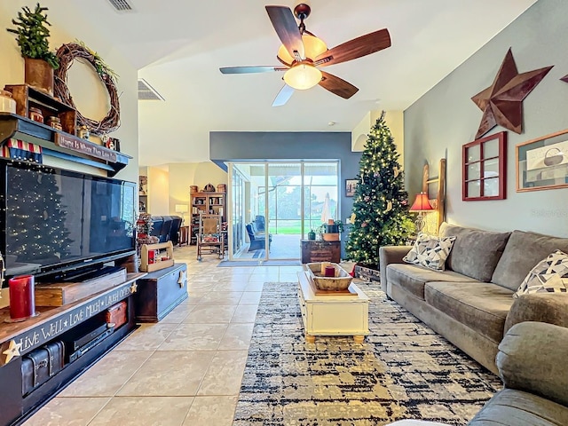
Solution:
{"label": "grey sofa seat cushion nearer the camera, on the long sofa", "polygon": [[427,304],[495,343],[503,337],[512,296],[508,288],[485,282],[428,282],[424,286]]}

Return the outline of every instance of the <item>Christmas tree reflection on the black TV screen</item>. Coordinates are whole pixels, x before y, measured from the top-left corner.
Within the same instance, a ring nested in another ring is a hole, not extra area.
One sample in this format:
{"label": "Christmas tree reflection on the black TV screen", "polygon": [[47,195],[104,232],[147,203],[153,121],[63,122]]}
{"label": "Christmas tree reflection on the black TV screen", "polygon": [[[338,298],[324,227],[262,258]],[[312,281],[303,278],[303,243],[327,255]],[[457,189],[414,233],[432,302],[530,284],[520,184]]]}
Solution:
{"label": "Christmas tree reflection on the black TV screen", "polygon": [[8,254],[19,262],[50,261],[69,256],[66,206],[61,203],[56,175],[42,171],[15,169],[8,185],[8,217],[14,223],[7,235]]}

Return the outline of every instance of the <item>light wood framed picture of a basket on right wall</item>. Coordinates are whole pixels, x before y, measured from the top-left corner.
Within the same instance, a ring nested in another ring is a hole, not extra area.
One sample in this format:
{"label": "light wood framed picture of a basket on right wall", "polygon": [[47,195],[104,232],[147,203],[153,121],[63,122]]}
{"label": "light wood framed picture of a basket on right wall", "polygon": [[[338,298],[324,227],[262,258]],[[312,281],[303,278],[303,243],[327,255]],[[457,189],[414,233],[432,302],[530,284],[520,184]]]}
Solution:
{"label": "light wood framed picture of a basket on right wall", "polygon": [[568,187],[568,129],[516,146],[517,193]]}

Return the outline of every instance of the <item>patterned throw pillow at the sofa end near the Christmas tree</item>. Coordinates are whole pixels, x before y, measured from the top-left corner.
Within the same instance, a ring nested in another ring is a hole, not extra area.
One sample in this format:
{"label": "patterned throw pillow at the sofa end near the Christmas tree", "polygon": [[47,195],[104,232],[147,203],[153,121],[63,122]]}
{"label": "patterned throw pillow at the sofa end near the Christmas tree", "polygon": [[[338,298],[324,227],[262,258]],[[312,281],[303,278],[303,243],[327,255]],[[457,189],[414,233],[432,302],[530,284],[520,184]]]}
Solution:
{"label": "patterned throw pillow at the sofa end near the Christmas tree", "polygon": [[414,247],[402,260],[409,264],[420,264],[435,271],[446,269],[446,259],[454,246],[455,237],[437,237],[421,233]]}

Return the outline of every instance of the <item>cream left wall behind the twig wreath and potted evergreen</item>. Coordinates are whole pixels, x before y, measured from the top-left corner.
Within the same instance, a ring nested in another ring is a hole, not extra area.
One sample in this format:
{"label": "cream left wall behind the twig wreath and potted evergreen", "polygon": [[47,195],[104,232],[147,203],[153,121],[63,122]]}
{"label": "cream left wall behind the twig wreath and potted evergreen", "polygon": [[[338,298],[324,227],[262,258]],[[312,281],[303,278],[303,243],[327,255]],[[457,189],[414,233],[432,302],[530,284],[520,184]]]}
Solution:
{"label": "cream left wall behind the twig wreath and potted evergreen", "polygon": [[[61,44],[81,40],[105,59],[109,67],[120,75],[117,89],[120,94],[121,127],[112,133],[121,139],[121,151],[129,154],[129,165],[117,174],[117,178],[138,182],[138,71],[123,59],[119,51],[115,51],[112,43],[100,36],[100,28],[96,22],[72,19],[81,16],[76,5],[70,2],[63,4],[60,0],[43,0],[41,4],[49,8],[48,20],[51,22],[50,46],[53,51]],[[20,12],[21,7],[34,7],[36,2],[11,0],[0,2],[0,86],[4,84],[24,83],[24,61],[20,48],[12,33],[5,28],[13,28],[12,18]],[[73,11],[74,13],[70,13]],[[75,105],[94,120],[102,119],[108,111],[108,95],[106,88],[99,83],[99,77],[91,71],[90,66],[75,63],[68,73],[68,85]],[[101,174],[98,169],[84,167],[70,162],[50,162],[52,165],[72,170],[83,170],[91,174]]]}

